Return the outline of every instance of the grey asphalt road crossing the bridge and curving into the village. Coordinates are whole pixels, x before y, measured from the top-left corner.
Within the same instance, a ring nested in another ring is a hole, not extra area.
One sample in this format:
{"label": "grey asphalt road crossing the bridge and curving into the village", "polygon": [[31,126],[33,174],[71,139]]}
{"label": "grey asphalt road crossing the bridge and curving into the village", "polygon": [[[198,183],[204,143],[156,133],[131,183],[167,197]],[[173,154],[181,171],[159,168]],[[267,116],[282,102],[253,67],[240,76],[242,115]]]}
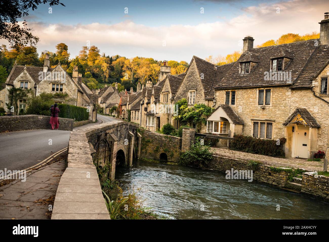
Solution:
{"label": "grey asphalt road crossing the bridge and curving into the village", "polygon": [[[114,118],[97,114],[97,123],[80,127],[88,127],[101,122],[111,122]],[[79,128],[80,128],[79,127]],[[67,147],[69,131],[29,130],[0,133],[0,170],[23,170],[43,161],[55,152]],[[51,139],[51,145],[50,141]]]}

